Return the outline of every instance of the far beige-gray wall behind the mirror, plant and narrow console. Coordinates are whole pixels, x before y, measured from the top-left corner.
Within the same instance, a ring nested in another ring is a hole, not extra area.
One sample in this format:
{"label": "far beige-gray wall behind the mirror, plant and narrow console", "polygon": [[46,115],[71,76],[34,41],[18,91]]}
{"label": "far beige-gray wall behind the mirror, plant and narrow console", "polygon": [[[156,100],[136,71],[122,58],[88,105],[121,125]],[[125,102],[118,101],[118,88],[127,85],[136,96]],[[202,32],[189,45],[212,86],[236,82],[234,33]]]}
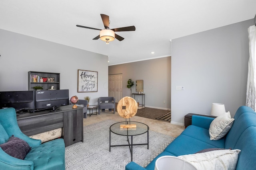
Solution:
{"label": "far beige-gray wall behind the mirror, plant and narrow console", "polygon": [[[130,89],[126,87],[128,79],[134,82],[143,80],[146,107],[171,108],[171,57],[109,66],[108,74],[123,74],[123,97],[130,96]],[[136,84],[132,87],[132,93],[138,93]]]}

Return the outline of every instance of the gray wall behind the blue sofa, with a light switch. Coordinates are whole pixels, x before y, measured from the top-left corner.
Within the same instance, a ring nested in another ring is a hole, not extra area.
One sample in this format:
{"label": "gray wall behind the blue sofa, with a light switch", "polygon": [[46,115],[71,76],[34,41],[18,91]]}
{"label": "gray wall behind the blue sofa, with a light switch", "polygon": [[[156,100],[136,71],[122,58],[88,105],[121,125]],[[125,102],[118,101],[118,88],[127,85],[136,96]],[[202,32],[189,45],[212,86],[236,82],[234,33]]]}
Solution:
{"label": "gray wall behind the blue sofa, with a light switch", "polygon": [[225,104],[232,117],[245,105],[247,29],[253,24],[252,19],[172,40],[171,123],[184,123],[187,113],[210,115],[212,103]]}

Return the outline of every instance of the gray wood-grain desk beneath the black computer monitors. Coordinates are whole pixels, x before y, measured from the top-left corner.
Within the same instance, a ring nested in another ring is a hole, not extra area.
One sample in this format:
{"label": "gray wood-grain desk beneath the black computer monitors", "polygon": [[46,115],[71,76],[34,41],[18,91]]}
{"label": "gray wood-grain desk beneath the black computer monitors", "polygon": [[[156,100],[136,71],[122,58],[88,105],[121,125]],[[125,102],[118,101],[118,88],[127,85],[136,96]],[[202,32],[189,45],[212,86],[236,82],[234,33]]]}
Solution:
{"label": "gray wood-grain desk beneath the black computer monitors", "polygon": [[62,128],[65,146],[84,142],[83,108],[72,105],[58,107],[54,112],[36,111],[17,115],[20,130],[27,136]]}

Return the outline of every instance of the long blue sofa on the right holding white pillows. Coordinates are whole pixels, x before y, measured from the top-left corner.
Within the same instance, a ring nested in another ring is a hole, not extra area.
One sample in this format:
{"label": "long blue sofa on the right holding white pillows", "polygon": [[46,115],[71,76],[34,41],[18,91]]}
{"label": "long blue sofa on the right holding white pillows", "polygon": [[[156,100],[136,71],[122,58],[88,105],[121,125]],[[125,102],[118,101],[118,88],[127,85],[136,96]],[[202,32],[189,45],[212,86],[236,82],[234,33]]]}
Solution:
{"label": "long blue sofa on the right holding white pillows", "polygon": [[222,139],[210,140],[209,127],[214,118],[193,115],[188,126],[166,149],[148,166],[143,168],[135,162],[126,165],[126,170],[154,170],[160,156],[180,156],[194,154],[203,149],[240,149],[236,170],[256,169],[256,113],[250,107],[241,106],[236,111],[230,131]]}

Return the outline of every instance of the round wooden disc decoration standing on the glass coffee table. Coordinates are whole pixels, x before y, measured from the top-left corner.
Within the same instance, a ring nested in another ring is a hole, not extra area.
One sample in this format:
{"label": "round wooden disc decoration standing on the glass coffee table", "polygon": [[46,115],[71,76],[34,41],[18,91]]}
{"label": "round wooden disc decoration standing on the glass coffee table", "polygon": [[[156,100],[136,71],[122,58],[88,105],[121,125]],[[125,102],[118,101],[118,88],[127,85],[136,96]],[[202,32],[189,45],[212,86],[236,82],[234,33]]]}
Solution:
{"label": "round wooden disc decoration standing on the glass coffee table", "polygon": [[131,118],[136,115],[138,105],[136,100],[131,97],[122,98],[117,104],[117,112],[123,118]]}

